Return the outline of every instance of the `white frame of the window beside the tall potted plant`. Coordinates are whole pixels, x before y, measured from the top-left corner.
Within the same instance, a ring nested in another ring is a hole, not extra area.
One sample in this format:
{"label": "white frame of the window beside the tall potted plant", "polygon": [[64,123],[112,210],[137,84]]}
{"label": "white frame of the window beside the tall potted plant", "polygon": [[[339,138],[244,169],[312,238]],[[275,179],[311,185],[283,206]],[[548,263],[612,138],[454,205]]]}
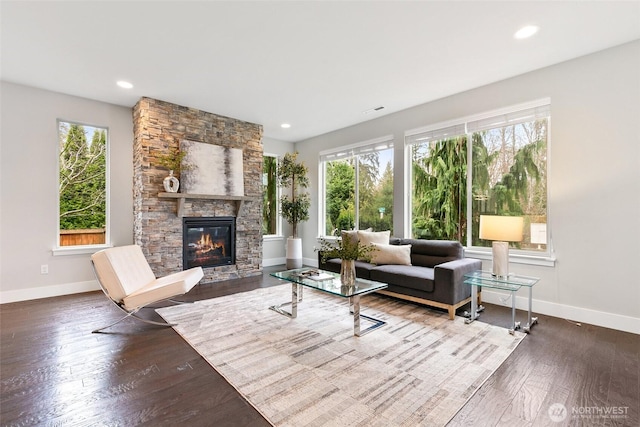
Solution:
{"label": "white frame of the window beside the tall potted plant", "polygon": [[[382,147],[384,145],[384,147]],[[327,218],[326,218],[326,208],[327,208],[327,197],[326,197],[326,189],[327,189],[327,175],[326,175],[326,163],[329,161],[336,160],[346,160],[353,158],[359,154],[365,154],[371,151],[384,151],[384,150],[392,150],[394,148],[394,138],[393,135],[385,135],[378,138],[369,139],[366,141],[357,142],[354,144],[343,145],[339,148],[333,148],[329,150],[324,150],[318,153],[318,236],[320,238],[325,239],[333,239],[335,236],[328,236],[325,234],[326,226],[327,226]],[[356,163],[357,164],[357,163]],[[392,163],[393,166],[393,163]],[[356,167],[355,172],[355,188],[354,188],[354,199],[356,202],[359,201],[359,181],[358,181],[358,168]],[[395,171],[394,171],[395,176]],[[355,219],[354,225],[358,228],[360,223],[360,212],[359,212],[359,203],[356,203],[355,206]]]}

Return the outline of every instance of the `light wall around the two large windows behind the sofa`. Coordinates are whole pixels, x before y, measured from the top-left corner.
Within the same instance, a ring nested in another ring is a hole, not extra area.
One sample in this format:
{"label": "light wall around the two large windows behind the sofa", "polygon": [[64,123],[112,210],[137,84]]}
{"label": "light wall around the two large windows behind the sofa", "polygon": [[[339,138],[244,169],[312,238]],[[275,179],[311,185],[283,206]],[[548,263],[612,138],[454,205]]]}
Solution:
{"label": "light wall around the two large windows behind the sofa", "polygon": [[[511,270],[542,279],[534,311],[640,333],[640,41],[302,141],[296,150],[311,166],[319,151],[393,134],[394,229],[401,235],[406,130],[546,97],[557,262]],[[310,170],[312,217],[301,233],[307,262],[315,260],[318,235],[317,166]],[[525,307],[524,298],[518,302]]]}

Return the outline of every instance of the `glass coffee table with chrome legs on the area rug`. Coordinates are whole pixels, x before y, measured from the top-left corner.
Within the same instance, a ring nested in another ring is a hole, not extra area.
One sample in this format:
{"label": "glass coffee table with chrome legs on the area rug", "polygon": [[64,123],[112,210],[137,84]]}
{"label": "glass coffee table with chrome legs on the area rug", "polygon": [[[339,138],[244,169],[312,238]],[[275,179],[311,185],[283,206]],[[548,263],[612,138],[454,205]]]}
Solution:
{"label": "glass coffee table with chrome legs on the area rug", "polygon": [[[309,272],[322,275],[324,280],[314,280],[310,278],[310,276],[316,276],[316,274],[309,274]],[[291,282],[291,301],[269,307],[271,310],[284,316],[291,317],[292,319],[298,316],[298,303],[302,302],[302,289],[303,287],[307,287],[342,298],[349,298],[349,309],[350,312],[353,313],[353,334],[355,336],[361,337],[386,324],[386,322],[380,319],[365,316],[360,313],[360,297],[385,289],[387,287],[385,283],[356,279],[353,286],[343,286],[342,283],[340,283],[340,275],[338,273],[319,270],[317,268],[298,268],[295,270],[271,273],[271,276]],[[289,305],[291,306],[291,311],[286,311],[284,307]],[[366,329],[361,329],[360,318],[372,322],[373,325]]]}

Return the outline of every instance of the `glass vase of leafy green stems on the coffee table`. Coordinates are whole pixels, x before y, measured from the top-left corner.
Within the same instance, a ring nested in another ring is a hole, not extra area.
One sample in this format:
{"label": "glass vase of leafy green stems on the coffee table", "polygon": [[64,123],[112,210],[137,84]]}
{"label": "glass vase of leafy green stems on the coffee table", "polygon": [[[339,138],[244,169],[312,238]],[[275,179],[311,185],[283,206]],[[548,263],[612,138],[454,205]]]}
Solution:
{"label": "glass vase of leafy green stems on the coffee table", "polygon": [[340,283],[344,286],[353,286],[356,281],[356,260],[371,260],[373,245],[362,245],[357,239],[343,235],[335,243],[320,239],[322,261],[331,258],[340,258]]}

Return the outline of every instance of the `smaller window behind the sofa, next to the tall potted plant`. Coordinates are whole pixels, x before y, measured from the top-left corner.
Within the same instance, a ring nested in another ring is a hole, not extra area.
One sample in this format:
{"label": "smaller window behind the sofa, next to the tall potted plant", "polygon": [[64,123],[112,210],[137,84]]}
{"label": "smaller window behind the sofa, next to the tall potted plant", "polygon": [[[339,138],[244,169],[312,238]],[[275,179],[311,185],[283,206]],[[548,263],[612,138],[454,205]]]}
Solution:
{"label": "smaller window behind the sofa, next to the tall potted plant", "polygon": [[320,175],[321,235],[367,228],[393,234],[391,136],[320,153]]}

